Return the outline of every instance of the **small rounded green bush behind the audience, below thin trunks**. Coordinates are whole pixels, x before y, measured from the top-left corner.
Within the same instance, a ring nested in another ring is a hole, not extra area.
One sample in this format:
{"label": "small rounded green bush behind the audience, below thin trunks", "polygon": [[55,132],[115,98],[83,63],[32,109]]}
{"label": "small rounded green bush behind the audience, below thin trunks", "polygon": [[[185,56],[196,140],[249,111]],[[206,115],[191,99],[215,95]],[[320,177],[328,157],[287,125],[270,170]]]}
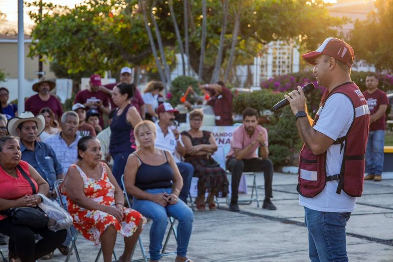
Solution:
{"label": "small rounded green bush behind the audience, below thin trunks", "polygon": [[172,81],[169,89],[170,95],[167,94],[167,96],[170,96],[168,101],[173,107],[180,104],[180,98],[184,95],[189,86],[193,87],[195,92],[198,92],[198,81],[193,77],[178,76]]}

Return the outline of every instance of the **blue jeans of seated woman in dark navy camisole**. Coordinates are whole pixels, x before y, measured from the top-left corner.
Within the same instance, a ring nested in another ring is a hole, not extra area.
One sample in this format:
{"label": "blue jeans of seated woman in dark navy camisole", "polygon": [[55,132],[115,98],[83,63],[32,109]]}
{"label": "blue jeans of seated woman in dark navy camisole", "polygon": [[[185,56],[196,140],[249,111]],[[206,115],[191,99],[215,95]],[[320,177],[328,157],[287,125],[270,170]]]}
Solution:
{"label": "blue jeans of seated woman in dark navy camisole", "polygon": [[[156,188],[147,189],[145,192],[153,195],[165,192],[170,194],[172,189]],[[161,258],[160,251],[168,225],[168,216],[174,217],[179,221],[177,225],[177,255],[186,257],[194,221],[193,211],[187,204],[179,199],[176,204],[162,206],[149,200],[134,198],[133,208],[145,217],[153,220],[150,228],[150,260],[159,260]]]}

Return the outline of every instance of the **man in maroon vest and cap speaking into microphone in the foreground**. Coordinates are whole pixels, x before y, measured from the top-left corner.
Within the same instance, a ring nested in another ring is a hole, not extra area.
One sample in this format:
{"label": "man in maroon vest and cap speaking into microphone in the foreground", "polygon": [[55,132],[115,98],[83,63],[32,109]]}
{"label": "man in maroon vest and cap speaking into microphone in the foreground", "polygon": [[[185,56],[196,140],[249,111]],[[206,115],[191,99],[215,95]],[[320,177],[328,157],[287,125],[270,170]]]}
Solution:
{"label": "man in maroon vest and cap speaking into microphone in the foreground", "polygon": [[329,90],[312,125],[302,88],[285,95],[304,142],[297,190],[309,230],[309,258],[348,261],[345,227],[363,191],[370,111],[351,81],[350,45],[329,37],[302,57],[314,65],[318,85]]}

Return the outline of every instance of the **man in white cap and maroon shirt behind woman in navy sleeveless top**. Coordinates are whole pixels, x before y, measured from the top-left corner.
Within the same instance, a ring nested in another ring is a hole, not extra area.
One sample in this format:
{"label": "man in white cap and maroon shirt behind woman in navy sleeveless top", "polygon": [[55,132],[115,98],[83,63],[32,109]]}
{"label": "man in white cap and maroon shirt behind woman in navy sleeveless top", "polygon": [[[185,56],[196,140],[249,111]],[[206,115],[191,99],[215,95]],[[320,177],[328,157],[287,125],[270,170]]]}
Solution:
{"label": "man in white cap and maroon shirt behind woman in navy sleeveless top", "polygon": [[[133,76],[132,69],[130,67],[125,66],[125,67],[121,68],[121,70],[120,70],[120,83],[131,84],[132,83],[132,76]],[[104,93],[108,94],[111,97],[113,88],[120,83],[104,85],[103,87],[100,88],[100,90],[103,91]],[[140,95],[140,92],[138,90],[138,87],[135,87],[135,90],[133,90],[133,94],[134,95],[131,99],[131,104],[133,106],[135,106],[135,108],[138,110],[142,119],[144,119],[145,106],[144,106],[142,96]],[[116,108],[116,105],[113,103],[112,98],[111,98],[111,105],[112,105],[112,108]]]}

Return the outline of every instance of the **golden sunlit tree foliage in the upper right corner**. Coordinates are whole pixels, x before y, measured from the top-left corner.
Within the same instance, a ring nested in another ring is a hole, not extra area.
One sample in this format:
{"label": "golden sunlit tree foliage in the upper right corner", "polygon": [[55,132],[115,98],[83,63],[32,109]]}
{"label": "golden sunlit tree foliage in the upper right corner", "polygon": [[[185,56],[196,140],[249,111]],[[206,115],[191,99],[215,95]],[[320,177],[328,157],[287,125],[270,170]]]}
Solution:
{"label": "golden sunlit tree foliage in the upper right corner", "polygon": [[373,1],[376,11],[367,20],[357,20],[349,43],[355,56],[374,64],[377,71],[393,72],[393,0]]}

